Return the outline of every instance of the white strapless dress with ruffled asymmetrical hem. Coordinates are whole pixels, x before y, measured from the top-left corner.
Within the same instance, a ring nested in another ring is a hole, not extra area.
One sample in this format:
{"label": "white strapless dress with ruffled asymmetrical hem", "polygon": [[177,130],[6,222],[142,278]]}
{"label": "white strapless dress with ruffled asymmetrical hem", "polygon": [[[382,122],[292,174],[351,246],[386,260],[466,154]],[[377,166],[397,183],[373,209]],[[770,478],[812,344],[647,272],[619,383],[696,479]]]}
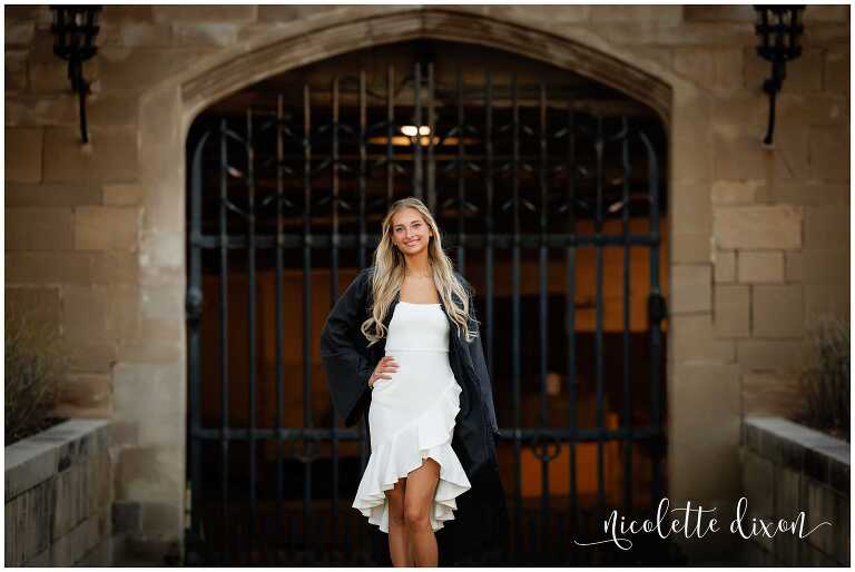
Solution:
{"label": "white strapless dress with ruffled asymmetrical hem", "polygon": [[462,388],[449,364],[450,326],[440,304],[399,302],[389,324],[385,355],[395,356],[397,372],[374,382],[368,408],[371,456],[353,507],[389,533],[384,491],[422,466],[440,464],[440,481],[430,511],[431,527],[453,520],[455,497],[471,489],[451,447]]}

